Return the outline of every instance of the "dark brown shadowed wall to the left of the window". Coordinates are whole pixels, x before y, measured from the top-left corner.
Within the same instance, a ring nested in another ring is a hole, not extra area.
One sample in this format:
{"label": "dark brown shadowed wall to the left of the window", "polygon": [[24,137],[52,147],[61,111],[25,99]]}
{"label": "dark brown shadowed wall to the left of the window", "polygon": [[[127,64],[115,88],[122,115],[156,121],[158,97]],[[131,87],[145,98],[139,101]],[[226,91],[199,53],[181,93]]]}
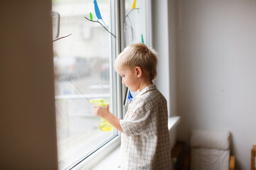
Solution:
{"label": "dark brown shadowed wall to the left of the window", "polygon": [[0,1],[1,169],[58,169],[51,1]]}

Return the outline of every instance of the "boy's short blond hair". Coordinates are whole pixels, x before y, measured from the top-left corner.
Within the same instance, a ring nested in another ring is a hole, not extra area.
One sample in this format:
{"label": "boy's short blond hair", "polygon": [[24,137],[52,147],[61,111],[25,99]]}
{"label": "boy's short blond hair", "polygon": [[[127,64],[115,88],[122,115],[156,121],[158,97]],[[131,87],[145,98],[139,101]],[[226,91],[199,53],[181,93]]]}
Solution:
{"label": "boy's short blond hair", "polygon": [[149,72],[150,79],[156,79],[156,65],[158,57],[154,49],[146,45],[132,44],[124,48],[114,62],[114,69],[134,69],[141,67],[142,71]]}

